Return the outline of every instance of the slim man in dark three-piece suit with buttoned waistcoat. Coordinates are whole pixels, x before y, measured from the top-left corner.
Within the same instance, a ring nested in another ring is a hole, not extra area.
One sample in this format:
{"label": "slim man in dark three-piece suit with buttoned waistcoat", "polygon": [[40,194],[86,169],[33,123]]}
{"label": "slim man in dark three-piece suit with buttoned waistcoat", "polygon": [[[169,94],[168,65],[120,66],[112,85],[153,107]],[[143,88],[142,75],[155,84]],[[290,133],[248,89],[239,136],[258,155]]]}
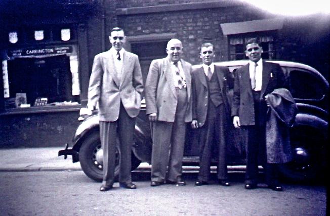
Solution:
{"label": "slim man in dark three-piece suit with buttoned waistcoat", "polygon": [[212,152],[218,151],[218,183],[230,186],[226,164],[226,129],[230,117],[227,98],[227,79],[231,74],[227,67],[215,66],[214,46],[203,43],[200,48],[202,66],[194,69],[192,85],[192,122],[191,127],[199,128],[198,143],[199,174],[196,186],[207,185],[210,179]]}

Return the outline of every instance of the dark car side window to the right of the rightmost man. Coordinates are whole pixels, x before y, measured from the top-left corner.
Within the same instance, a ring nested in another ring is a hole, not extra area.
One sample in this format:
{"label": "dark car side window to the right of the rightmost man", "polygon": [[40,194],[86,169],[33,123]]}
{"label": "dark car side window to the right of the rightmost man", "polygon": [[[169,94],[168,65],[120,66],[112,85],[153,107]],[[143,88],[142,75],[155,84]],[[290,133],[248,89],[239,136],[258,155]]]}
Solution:
{"label": "dark car side window to the right of the rightmost man", "polygon": [[316,74],[294,69],[290,71],[290,91],[297,99],[320,100],[326,93],[326,86]]}

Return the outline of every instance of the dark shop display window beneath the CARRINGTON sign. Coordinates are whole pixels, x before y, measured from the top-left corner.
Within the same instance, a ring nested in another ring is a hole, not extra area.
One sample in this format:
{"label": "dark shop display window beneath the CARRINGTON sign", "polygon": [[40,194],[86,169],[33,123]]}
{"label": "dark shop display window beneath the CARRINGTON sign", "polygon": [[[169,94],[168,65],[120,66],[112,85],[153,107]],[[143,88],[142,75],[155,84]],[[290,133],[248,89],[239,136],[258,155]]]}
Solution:
{"label": "dark shop display window beneath the CARRINGTON sign", "polygon": [[[70,57],[15,58],[8,61],[9,98],[6,108],[14,108],[17,95],[26,95],[33,105],[46,99],[47,103],[75,101],[72,96]],[[42,104],[44,105],[44,104]]]}

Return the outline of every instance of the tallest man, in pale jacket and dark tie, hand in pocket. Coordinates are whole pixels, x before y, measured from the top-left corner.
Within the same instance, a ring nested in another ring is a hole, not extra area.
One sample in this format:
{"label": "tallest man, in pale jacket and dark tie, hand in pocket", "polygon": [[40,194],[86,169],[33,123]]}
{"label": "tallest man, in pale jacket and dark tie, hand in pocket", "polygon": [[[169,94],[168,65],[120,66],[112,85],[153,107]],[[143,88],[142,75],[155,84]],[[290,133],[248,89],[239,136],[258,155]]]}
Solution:
{"label": "tallest man, in pale jacket and dark tie, hand in pocket", "polygon": [[131,153],[135,117],[139,114],[143,91],[138,56],[122,48],[126,41],[121,28],[113,28],[112,47],[94,58],[88,88],[88,108],[99,103],[100,137],[103,149],[103,182],[100,191],[112,188],[118,133],[120,149],[119,185],[135,189],[131,179]]}

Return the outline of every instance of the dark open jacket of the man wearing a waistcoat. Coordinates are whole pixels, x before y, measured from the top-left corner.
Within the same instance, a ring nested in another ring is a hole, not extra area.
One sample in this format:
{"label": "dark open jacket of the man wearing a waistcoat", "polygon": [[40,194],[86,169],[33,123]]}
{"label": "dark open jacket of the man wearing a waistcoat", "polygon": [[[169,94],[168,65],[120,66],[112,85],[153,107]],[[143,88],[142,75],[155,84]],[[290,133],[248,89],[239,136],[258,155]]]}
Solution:
{"label": "dark open jacket of the man wearing a waistcoat", "polygon": [[[223,66],[215,66],[214,73],[217,76],[221,88],[221,95],[225,106],[225,116],[230,117],[230,106],[227,97],[227,80],[232,79],[229,69]],[[208,113],[209,86],[203,67],[194,69],[191,74],[192,85],[192,119],[198,121],[198,126],[204,125]]]}

